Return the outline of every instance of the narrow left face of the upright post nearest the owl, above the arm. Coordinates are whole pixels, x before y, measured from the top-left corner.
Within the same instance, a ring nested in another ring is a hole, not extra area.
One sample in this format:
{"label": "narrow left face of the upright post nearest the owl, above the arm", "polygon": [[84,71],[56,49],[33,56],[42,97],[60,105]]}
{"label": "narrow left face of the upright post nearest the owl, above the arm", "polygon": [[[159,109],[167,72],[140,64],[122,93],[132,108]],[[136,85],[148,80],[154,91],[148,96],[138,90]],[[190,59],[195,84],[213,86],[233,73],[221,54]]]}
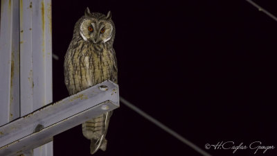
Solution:
{"label": "narrow left face of the upright post nearest the owl, above the arm", "polygon": [[[28,3],[27,3],[28,2]],[[20,1],[20,112],[33,112],[33,51],[31,1]]]}

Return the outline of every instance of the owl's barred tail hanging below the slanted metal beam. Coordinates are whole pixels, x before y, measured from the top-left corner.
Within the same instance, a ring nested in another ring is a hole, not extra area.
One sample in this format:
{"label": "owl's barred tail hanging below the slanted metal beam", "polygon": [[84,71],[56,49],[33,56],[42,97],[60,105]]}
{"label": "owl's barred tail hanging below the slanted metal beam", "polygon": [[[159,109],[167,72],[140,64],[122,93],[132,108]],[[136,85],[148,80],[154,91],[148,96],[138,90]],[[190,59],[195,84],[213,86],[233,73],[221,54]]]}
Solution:
{"label": "owl's barred tail hanging below the slanted metal beam", "polygon": [[91,140],[91,155],[96,153],[99,148],[103,151],[107,149],[107,139],[105,139],[105,137],[111,114],[112,111],[106,112],[105,114],[82,123],[82,134],[84,137]]}

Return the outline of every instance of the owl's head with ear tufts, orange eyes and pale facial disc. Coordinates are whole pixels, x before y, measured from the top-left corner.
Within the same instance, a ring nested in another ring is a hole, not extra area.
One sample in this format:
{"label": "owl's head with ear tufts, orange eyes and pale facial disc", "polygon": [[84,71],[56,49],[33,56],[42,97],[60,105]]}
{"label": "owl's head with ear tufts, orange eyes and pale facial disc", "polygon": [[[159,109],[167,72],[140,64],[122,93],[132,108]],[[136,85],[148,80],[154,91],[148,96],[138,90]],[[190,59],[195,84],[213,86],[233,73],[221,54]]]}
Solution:
{"label": "owl's head with ear tufts, orange eyes and pale facial disc", "polygon": [[[114,42],[115,27],[114,22],[111,20],[111,12],[107,15],[90,12],[89,8],[84,11],[84,16],[81,17],[75,25],[78,27],[80,37],[86,42],[92,44],[100,44],[105,42]],[[77,35],[77,34],[76,34]]]}

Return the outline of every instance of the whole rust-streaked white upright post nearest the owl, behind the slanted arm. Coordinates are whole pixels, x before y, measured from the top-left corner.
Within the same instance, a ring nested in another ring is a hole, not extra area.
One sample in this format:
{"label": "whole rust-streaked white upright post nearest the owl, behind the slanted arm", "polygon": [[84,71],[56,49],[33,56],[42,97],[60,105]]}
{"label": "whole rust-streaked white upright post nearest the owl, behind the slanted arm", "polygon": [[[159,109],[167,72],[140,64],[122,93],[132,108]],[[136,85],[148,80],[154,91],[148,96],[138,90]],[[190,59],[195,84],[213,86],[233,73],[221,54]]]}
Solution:
{"label": "whole rust-streaked white upright post nearest the owl, behind the slanted arm", "polygon": [[[21,116],[52,102],[51,0],[20,0]],[[51,156],[53,142],[26,155]]]}

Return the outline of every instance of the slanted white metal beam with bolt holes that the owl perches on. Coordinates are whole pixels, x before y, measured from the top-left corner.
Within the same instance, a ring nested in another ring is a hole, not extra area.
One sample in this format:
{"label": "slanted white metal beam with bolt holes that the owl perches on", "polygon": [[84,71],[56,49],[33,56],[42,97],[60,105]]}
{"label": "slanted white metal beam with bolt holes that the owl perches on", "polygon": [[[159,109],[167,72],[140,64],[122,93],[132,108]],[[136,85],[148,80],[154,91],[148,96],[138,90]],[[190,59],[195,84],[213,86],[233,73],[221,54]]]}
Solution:
{"label": "slanted white metal beam with bolt holes that the owl perches on", "polygon": [[93,116],[119,107],[118,85],[107,80],[0,127],[0,155],[19,155]]}

